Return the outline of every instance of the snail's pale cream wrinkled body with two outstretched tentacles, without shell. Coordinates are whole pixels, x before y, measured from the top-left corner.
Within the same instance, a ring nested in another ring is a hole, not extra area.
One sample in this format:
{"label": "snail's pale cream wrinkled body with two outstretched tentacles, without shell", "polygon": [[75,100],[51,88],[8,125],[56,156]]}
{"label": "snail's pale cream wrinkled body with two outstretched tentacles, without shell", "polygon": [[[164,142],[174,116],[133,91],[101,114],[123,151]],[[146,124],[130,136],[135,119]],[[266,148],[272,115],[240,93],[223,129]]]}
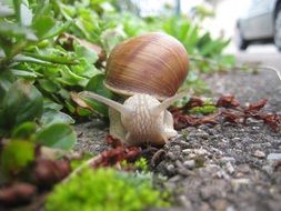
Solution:
{"label": "snail's pale cream wrinkled body with two outstretched tentacles, without shell", "polygon": [[137,93],[121,104],[88,91],[80,94],[113,109],[109,112],[110,134],[128,145],[163,145],[170,138],[175,137],[178,132],[173,129],[173,118],[167,108],[187,96],[181,92],[160,102],[149,94]]}

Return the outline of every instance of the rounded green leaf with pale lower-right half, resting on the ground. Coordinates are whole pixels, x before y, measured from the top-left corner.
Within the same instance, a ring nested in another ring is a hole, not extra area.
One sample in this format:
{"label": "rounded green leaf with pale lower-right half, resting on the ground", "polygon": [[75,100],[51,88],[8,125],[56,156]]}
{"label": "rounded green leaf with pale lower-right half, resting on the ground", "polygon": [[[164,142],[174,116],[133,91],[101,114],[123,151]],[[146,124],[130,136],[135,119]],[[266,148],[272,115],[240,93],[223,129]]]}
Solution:
{"label": "rounded green leaf with pale lower-right half, resting on the ground", "polygon": [[50,148],[70,150],[76,144],[77,138],[71,127],[56,123],[40,130],[36,135],[36,142]]}

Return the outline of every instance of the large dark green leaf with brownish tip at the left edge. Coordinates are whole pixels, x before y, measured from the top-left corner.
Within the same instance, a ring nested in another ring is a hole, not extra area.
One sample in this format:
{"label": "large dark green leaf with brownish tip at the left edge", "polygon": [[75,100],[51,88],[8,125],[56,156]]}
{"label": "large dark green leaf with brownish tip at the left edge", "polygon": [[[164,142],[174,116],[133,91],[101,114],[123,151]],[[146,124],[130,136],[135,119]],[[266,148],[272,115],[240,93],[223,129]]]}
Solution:
{"label": "large dark green leaf with brownish tip at the left edge", "polygon": [[10,87],[3,99],[3,119],[0,119],[0,128],[11,129],[24,121],[40,119],[42,110],[42,94],[31,82],[18,80]]}

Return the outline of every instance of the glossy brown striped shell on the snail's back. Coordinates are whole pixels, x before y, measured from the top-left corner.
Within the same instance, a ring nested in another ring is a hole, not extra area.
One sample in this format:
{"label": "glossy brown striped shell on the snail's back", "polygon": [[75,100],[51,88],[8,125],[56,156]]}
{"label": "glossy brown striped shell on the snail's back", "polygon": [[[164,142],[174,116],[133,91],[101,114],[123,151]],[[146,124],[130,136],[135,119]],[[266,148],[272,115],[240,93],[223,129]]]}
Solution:
{"label": "glossy brown striped shell on the snail's back", "polygon": [[188,53],[173,37],[152,32],[118,44],[107,62],[104,86],[121,94],[175,94],[188,74]]}

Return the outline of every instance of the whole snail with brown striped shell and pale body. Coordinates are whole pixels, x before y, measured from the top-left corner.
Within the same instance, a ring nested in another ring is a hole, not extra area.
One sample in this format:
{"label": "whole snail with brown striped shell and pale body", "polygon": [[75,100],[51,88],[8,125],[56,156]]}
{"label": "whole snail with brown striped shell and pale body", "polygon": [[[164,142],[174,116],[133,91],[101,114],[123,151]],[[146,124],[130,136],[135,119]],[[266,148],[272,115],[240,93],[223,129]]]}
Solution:
{"label": "whole snail with brown striped shell and pale body", "polygon": [[147,33],[118,44],[107,61],[104,86],[128,96],[123,104],[88,91],[80,96],[110,107],[112,137],[128,145],[163,145],[178,134],[167,109],[188,94],[177,94],[188,67],[188,53],[177,39]]}

